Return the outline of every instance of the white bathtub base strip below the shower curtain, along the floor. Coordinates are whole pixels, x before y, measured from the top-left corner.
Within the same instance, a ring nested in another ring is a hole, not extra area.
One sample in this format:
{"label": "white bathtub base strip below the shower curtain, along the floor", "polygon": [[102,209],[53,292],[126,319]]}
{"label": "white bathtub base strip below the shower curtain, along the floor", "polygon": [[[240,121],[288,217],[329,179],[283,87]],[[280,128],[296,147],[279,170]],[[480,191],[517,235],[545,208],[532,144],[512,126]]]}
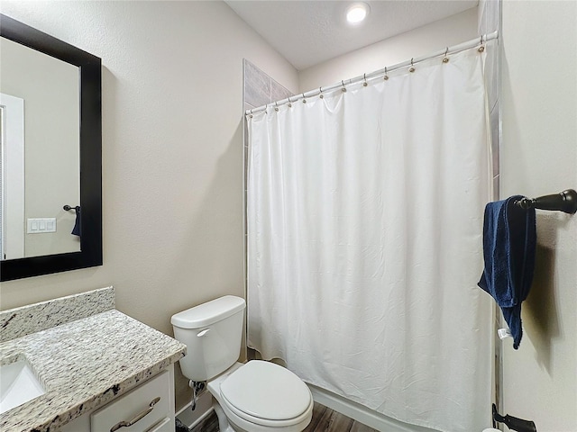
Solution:
{"label": "white bathtub base strip below the shower curtain, along the floor", "polygon": [[324,389],[308,384],[310,392],[313,393],[313,400],[325,405],[331,410],[357,420],[363,425],[380,430],[382,432],[435,432],[434,429],[409,425],[397,419],[391,419],[380,412],[371,410],[360,403],[349,401]]}

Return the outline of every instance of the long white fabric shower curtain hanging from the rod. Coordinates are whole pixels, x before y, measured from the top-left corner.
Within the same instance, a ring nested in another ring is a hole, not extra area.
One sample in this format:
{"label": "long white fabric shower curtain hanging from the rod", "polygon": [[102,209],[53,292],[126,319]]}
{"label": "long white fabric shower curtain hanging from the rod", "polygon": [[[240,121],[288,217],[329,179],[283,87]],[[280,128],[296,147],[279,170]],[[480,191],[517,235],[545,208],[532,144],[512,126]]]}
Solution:
{"label": "long white fabric shower curtain hanging from the rod", "polygon": [[470,49],[248,118],[249,346],[446,432],[490,422],[483,62]]}

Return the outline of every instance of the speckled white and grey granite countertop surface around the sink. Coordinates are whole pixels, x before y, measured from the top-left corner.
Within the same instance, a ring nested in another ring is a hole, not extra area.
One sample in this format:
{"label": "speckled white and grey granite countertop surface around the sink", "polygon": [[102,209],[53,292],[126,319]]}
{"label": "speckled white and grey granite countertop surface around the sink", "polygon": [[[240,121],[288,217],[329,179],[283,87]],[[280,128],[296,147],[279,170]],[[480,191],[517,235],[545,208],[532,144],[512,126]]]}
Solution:
{"label": "speckled white and grey granite countertop surface around the sink", "polygon": [[3,432],[49,432],[177,362],[186,346],[110,310],[0,343],[0,361],[28,360],[46,389],[0,414]]}

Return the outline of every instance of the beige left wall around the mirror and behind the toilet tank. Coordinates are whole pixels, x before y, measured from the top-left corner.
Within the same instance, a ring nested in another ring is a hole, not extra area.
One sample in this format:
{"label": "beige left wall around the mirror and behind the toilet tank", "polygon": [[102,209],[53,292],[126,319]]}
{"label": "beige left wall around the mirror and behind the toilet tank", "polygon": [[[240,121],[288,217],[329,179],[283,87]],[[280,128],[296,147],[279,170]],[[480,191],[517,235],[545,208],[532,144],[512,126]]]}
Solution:
{"label": "beige left wall around the mirror and behind the toilet tank", "polygon": [[118,310],[171,335],[173,313],[243,296],[243,57],[293,91],[296,70],[222,2],[1,12],[102,58],[104,195],[104,266],[2,283],[2,309],[112,284]]}

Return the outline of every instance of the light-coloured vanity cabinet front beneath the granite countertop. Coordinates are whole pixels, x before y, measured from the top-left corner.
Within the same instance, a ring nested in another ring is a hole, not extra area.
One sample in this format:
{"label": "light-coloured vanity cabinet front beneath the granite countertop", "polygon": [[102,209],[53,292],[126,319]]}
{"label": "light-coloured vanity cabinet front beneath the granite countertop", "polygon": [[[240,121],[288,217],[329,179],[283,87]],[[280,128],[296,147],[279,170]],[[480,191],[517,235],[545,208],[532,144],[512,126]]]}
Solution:
{"label": "light-coloured vanity cabinet front beneath the granite countertop", "polygon": [[174,366],[60,428],[60,432],[174,432]]}

